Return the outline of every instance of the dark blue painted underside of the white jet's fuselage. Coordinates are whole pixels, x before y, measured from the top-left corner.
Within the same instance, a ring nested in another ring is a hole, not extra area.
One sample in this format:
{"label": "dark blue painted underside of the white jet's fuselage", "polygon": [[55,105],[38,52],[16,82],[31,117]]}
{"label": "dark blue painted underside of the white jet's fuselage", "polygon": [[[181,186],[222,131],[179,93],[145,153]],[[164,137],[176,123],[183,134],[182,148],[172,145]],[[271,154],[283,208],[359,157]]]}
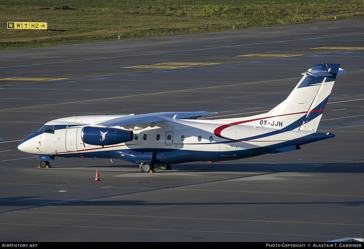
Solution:
{"label": "dark blue painted underside of the white jet's fuselage", "polygon": [[[265,147],[257,147],[253,149],[234,150],[234,151],[193,151],[184,149],[152,149],[152,148],[140,148],[140,149],[127,149],[127,150],[108,150],[108,151],[96,151],[96,152],[75,152],[70,154],[58,154],[52,156],[60,157],[75,157],[75,158],[115,158],[124,160],[130,163],[149,163],[153,160],[154,164],[177,164],[187,162],[198,161],[227,161],[250,158],[254,156],[263,155],[269,153],[269,151],[279,148],[285,148],[290,146],[299,146],[302,144],[312,143],[319,140],[333,137],[333,134],[313,133],[304,136],[299,139],[289,140],[282,143],[273,144]],[[235,140],[230,143],[237,142]],[[225,143],[229,143],[226,141]]]}

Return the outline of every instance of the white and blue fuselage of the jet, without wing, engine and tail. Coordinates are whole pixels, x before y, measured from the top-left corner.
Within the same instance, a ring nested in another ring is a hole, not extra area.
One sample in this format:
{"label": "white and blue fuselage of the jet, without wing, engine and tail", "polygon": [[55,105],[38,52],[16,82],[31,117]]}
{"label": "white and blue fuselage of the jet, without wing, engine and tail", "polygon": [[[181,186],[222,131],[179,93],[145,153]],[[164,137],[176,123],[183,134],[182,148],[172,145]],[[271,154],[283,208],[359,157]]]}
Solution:
{"label": "white and blue fuselage of the jet, without wing, engine and tail", "polygon": [[[296,150],[302,144],[333,136],[311,131],[285,131],[263,127],[260,120],[256,121],[258,126],[237,124],[224,128],[217,134],[216,130],[226,123],[218,120],[174,119],[173,122],[159,122],[154,127],[133,130],[132,140],[129,142],[107,146],[83,142],[83,127],[115,117],[123,116],[80,116],[48,122],[43,131],[35,132],[24,139],[19,150],[61,157],[115,158],[137,164],[153,160],[154,164],[165,165],[236,160]],[[99,138],[100,141],[107,141],[108,135],[100,134]],[[281,148],[285,149],[279,151]]]}

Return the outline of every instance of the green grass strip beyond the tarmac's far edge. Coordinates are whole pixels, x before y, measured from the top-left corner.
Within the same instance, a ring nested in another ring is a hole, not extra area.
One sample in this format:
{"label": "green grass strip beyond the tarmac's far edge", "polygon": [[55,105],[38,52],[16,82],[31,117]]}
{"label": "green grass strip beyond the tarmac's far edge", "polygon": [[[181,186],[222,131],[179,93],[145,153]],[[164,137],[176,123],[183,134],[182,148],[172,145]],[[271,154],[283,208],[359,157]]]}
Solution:
{"label": "green grass strip beyond the tarmac's far edge", "polygon": [[[0,49],[19,49],[364,17],[364,0],[0,0]],[[7,29],[8,21],[47,30]]]}

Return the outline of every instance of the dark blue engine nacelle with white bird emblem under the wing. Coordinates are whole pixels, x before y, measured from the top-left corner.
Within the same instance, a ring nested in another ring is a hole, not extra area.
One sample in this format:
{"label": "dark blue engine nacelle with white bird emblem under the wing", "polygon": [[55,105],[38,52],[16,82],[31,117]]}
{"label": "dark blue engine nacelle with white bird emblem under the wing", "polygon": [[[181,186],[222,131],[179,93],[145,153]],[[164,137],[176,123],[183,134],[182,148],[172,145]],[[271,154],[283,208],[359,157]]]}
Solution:
{"label": "dark blue engine nacelle with white bird emblem under the wing", "polygon": [[82,128],[82,142],[91,145],[113,145],[133,140],[133,132],[115,128],[86,126]]}

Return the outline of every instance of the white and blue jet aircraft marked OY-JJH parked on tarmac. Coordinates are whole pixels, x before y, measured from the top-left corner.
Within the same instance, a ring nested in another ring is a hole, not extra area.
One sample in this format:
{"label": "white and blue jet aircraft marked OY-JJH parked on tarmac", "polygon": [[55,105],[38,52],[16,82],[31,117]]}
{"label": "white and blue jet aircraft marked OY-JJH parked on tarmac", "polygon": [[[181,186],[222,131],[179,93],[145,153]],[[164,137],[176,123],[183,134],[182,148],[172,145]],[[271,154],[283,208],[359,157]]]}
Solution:
{"label": "white and blue jet aircraft marked OY-JJH parked on tarmac", "polygon": [[316,132],[340,64],[312,66],[287,99],[268,113],[245,118],[197,119],[199,112],[93,115],[60,118],[25,138],[19,150],[39,155],[38,167],[55,157],[110,158],[154,166],[217,162],[300,149],[332,138]]}

